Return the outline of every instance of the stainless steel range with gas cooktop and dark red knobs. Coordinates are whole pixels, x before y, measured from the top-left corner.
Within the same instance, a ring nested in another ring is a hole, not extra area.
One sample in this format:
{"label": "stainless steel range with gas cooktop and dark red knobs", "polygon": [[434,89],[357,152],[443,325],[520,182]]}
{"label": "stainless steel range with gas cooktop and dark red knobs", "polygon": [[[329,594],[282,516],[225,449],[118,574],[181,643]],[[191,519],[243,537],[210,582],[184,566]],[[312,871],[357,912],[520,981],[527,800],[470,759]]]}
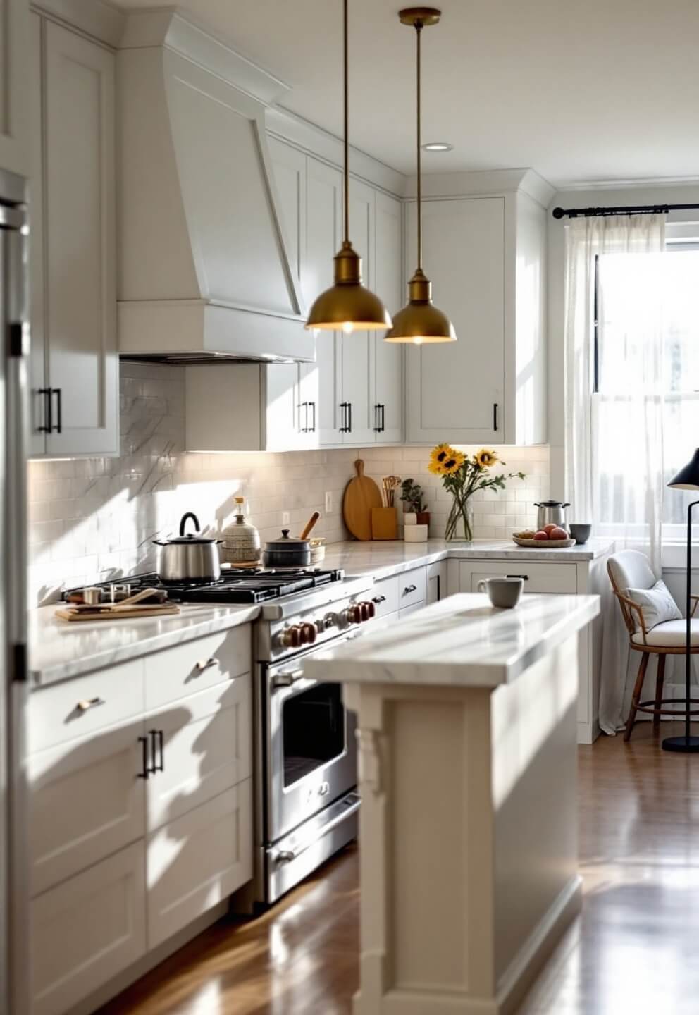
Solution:
{"label": "stainless steel range with gas cooktop and dark red knobs", "polygon": [[183,603],[260,604],[254,631],[255,879],[233,908],[269,905],[357,835],[354,715],[339,684],[311,680],[303,667],[314,653],[358,637],[371,621],[372,580],[313,568],[235,570],[217,582],[177,584],[139,574],[106,583],[104,597],[114,598],[119,587],[130,594],[162,589]]}

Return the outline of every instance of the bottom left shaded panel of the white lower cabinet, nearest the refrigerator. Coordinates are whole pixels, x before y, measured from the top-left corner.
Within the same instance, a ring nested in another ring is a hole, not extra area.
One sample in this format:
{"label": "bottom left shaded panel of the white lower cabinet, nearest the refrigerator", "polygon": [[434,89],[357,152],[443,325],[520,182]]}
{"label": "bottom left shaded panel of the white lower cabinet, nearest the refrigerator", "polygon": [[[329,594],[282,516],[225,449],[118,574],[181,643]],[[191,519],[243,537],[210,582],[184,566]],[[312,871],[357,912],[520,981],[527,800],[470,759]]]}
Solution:
{"label": "bottom left shaded panel of the white lower cabinet, nearest the refrigerator", "polygon": [[59,1015],[145,954],[143,842],[31,903],[32,1015]]}

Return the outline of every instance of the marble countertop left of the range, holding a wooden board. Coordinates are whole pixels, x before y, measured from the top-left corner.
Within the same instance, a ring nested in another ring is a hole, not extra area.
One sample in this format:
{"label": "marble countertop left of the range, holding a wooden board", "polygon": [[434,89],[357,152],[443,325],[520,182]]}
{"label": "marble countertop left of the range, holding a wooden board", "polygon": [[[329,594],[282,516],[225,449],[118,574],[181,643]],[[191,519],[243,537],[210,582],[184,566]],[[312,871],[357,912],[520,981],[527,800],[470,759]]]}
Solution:
{"label": "marble countertop left of the range, holding a wooden board", "polygon": [[249,623],[259,606],[183,606],[177,616],[68,623],[56,605],[29,613],[29,680],[46,686]]}

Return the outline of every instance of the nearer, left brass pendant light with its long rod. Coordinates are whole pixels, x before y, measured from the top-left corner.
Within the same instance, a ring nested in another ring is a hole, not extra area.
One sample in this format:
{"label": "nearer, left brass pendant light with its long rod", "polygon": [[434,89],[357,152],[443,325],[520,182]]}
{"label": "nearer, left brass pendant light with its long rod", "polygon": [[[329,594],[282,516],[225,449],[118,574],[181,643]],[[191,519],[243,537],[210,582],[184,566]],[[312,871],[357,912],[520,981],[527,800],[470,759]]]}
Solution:
{"label": "nearer, left brass pendant light with its long rod", "polygon": [[345,90],[345,188],[344,236],[335,255],[335,285],[313,302],[306,328],[345,332],[382,330],[391,327],[391,315],[378,296],[361,284],[361,258],[349,240],[349,71],[347,47],[347,2],[343,0],[344,90]]}

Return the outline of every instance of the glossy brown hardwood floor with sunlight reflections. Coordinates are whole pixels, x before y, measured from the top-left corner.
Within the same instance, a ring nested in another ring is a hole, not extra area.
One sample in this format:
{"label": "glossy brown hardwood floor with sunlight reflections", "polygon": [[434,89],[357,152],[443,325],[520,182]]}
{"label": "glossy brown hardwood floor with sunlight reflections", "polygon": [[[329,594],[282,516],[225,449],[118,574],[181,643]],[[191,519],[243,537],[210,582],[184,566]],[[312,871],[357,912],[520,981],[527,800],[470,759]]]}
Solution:
{"label": "glossy brown hardwood floor with sunlight reflections", "polygon": [[[662,752],[639,723],[629,744],[580,747],[579,771],[583,912],[519,1015],[696,1015],[699,758]],[[220,922],[99,1015],[349,1015],[358,902],[350,850],[264,918]]]}

